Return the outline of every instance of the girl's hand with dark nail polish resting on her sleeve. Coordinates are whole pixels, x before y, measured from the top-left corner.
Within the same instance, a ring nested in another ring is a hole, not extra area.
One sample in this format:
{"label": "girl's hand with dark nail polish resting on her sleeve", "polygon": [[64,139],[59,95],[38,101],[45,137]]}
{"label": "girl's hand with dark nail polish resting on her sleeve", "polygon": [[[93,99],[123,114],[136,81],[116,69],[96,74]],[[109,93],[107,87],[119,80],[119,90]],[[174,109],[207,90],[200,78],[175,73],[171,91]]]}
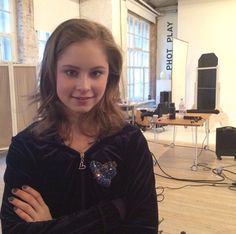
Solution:
{"label": "girl's hand with dark nail polish resting on her sleeve", "polygon": [[47,221],[52,216],[41,194],[30,186],[21,189],[13,188],[14,196],[9,197],[9,202],[14,205],[15,213],[26,222]]}

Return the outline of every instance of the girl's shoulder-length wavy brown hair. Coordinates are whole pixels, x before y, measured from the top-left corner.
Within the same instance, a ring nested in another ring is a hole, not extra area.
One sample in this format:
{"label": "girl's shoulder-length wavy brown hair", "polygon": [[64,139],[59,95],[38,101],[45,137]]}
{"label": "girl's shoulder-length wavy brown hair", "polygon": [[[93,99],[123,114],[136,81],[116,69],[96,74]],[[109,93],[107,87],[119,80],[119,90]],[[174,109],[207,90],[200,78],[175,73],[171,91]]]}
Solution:
{"label": "girl's shoulder-length wavy brown hair", "polygon": [[[122,72],[119,47],[111,32],[103,25],[86,19],[70,19],[55,29],[45,46],[39,73],[39,90],[34,96],[34,101],[39,102],[37,124],[33,129],[37,136],[59,133],[64,139],[69,137],[71,129],[68,116],[56,92],[56,66],[58,58],[69,45],[85,40],[96,40],[102,45],[108,58],[109,74],[102,99],[78,119],[78,123],[86,120],[88,124],[79,126],[84,134],[95,137],[112,135],[124,126],[124,116],[117,105]],[[93,128],[89,129],[89,126]]]}

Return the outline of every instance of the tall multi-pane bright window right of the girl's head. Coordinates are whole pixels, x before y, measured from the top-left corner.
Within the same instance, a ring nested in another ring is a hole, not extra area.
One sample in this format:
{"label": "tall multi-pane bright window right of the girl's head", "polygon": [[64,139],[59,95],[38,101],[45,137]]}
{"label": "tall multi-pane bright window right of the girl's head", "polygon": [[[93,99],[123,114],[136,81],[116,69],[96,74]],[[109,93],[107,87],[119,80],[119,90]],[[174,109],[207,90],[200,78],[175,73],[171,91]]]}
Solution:
{"label": "tall multi-pane bright window right of the girl's head", "polygon": [[128,99],[148,100],[150,94],[150,24],[128,14]]}

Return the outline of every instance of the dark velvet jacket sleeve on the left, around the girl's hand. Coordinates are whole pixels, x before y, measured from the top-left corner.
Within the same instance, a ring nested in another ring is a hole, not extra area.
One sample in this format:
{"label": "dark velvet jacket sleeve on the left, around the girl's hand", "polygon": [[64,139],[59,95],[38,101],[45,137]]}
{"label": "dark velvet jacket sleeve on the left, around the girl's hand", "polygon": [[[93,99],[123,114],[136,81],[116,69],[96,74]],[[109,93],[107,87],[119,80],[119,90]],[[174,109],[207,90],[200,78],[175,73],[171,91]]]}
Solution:
{"label": "dark velvet jacket sleeve on the left, around the girl's hand", "polygon": [[[8,197],[12,196],[11,189],[13,187],[24,184],[33,185],[31,180],[34,168],[37,165],[35,158],[26,151],[23,144],[23,141],[13,140],[6,159],[5,188],[1,207],[3,234],[93,234],[112,232],[112,230],[120,227],[121,217],[116,201],[97,204],[83,212],[73,213],[50,221],[27,223],[20,219],[8,202]],[[19,158],[16,158],[17,156]]]}

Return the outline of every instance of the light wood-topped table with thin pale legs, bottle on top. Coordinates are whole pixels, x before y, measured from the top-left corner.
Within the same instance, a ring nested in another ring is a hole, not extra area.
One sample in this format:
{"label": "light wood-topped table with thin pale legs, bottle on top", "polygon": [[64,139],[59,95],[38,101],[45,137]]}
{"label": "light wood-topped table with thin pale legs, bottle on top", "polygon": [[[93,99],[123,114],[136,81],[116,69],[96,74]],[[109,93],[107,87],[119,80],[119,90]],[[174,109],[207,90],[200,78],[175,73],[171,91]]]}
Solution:
{"label": "light wood-topped table with thin pale legs, bottle on top", "polygon": [[[195,127],[195,160],[192,166],[193,170],[197,169],[197,158],[198,158],[198,147],[197,147],[197,128],[201,127],[205,124],[206,128],[206,140],[207,143],[204,146],[205,149],[208,148],[209,143],[209,113],[186,113],[185,116],[191,116],[196,117],[193,119],[183,119],[183,118],[176,118],[176,119],[169,119],[165,117],[160,117],[155,120],[155,123],[157,125],[173,125],[174,126],[174,132],[173,132],[173,143],[172,145],[175,145],[175,127],[176,126],[192,126]],[[200,119],[198,119],[200,118]]]}

